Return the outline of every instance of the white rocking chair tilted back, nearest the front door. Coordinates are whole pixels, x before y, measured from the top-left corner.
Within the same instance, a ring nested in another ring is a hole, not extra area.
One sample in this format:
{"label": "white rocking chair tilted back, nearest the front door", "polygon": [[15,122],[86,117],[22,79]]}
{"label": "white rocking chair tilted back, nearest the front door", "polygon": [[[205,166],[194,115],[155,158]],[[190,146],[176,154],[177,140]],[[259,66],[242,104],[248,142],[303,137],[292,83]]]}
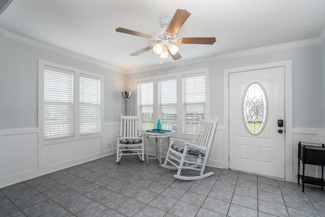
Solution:
{"label": "white rocking chair tilted back, nearest the front door", "polygon": [[[196,180],[212,175],[213,172],[206,174],[203,173],[217,125],[217,120],[217,117],[212,120],[200,119],[193,142],[170,138],[167,156],[165,163],[162,166],[168,169],[178,170],[177,175],[174,175],[174,177],[183,180]],[[182,142],[182,145],[175,145],[173,144],[174,141],[180,141]],[[168,163],[172,166],[167,165]],[[182,170],[186,169],[198,170],[200,171],[200,175],[181,175]]]}

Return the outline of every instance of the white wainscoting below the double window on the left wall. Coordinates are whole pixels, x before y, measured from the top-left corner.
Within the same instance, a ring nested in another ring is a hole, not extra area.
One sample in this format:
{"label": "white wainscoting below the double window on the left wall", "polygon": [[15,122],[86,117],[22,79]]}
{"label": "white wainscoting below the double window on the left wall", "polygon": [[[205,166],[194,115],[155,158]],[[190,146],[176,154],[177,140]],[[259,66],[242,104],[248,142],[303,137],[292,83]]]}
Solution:
{"label": "white wainscoting below the double window on the left wall", "polygon": [[44,145],[38,128],[0,130],[0,188],[116,153],[118,132],[106,122],[100,136]]}

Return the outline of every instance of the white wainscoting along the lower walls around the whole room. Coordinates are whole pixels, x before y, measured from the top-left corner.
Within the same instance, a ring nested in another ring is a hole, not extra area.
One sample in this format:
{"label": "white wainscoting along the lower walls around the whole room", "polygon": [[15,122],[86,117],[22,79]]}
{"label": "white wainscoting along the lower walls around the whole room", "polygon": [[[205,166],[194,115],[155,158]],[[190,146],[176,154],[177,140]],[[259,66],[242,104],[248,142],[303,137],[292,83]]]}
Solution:
{"label": "white wainscoting along the lower walls around the whole room", "polygon": [[[115,154],[116,135],[118,134],[119,122],[106,122],[102,136],[43,146],[38,141],[38,128],[0,130],[0,188]],[[217,126],[207,162],[208,166],[223,168],[223,134],[223,126]],[[168,147],[167,139],[163,141],[162,155],[165,157]],[[293,129],[293,162],[291,164],[293,177],[291,177],[291,180],[294,182],[298,180],[299,141],[324,143],[324,130],[311,128]],[[44,152],[38,151],[39,145],[44,147]],[[149,146],[149,154],[154,153],[155,142],[152,139]],[[44,159],[44,162],[39,162],[40,159]],[[320,177],[321,169],[318,166],[306,165],[306,175]]]}

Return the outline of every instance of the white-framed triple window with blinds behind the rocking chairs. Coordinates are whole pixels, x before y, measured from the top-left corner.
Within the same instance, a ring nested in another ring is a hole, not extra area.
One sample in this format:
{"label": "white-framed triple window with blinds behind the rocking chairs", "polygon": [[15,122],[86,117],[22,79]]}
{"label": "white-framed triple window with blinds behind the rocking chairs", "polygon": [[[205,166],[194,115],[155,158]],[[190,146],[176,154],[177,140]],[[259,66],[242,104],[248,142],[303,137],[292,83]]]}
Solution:
{"label": "white-framed triple window with blinds behind the rocking chairs", "polygon": [[200,117],[206,118],[208,69],[171,73],[137,79],[137,107],[142,130],[171,130],[182,138],[196,131]]}

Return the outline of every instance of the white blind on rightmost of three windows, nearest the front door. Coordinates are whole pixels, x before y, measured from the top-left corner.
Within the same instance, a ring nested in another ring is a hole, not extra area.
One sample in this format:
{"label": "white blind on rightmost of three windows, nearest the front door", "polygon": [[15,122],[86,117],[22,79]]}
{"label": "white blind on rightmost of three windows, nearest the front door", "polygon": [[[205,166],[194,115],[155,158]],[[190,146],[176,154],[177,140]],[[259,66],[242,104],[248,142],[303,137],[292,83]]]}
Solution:
{"label": "white blind on rightmost of three windows, nearest the front door", "polygon": [[205,76],[183,77],[183,133],[194,133],[205,117]]}

